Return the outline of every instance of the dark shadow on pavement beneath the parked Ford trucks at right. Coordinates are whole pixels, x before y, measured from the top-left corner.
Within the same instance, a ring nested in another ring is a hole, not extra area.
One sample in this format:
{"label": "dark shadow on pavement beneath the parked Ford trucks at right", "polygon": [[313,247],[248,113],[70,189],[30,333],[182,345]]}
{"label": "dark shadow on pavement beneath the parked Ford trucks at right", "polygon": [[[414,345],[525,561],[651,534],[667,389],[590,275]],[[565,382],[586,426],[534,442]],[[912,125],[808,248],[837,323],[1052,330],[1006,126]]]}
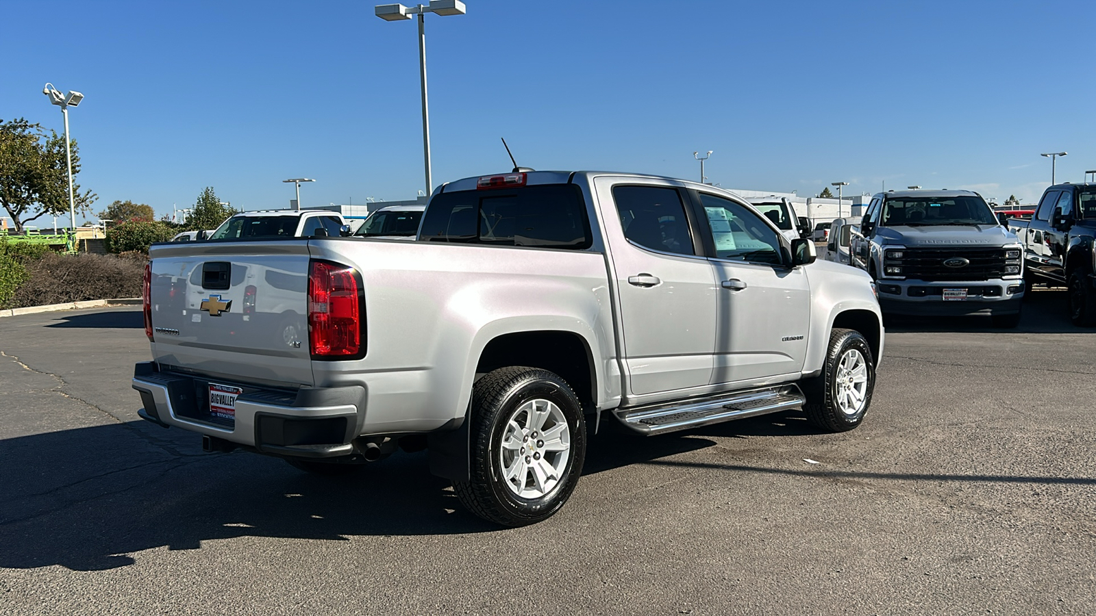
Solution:
{"label": "dark shadow on pavement beneath the parked Ford trucks at right", "polygon": [[990,317],[900,317],[886,316],[887,333],[1096,333],[1078,328],[1066,312],[1065,289],[1036,288],[1024,298],[1020,323],[1012,329],[993,327]]}

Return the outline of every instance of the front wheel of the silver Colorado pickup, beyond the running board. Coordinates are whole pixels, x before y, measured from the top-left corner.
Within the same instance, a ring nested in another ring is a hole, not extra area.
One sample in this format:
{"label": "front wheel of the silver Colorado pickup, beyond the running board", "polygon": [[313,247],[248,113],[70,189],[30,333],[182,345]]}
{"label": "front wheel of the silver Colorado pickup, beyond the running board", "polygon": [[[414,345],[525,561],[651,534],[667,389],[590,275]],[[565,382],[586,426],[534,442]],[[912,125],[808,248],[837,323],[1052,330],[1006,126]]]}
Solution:
{"label": "front wheel of the silver Colorado pickup, beyond the running board", "polygon": [[868,341],[857,331],[834,328],[822,374],[804,385],[803,411],[812,424],[827,432],[847,432],[860,425],[876,387]]}

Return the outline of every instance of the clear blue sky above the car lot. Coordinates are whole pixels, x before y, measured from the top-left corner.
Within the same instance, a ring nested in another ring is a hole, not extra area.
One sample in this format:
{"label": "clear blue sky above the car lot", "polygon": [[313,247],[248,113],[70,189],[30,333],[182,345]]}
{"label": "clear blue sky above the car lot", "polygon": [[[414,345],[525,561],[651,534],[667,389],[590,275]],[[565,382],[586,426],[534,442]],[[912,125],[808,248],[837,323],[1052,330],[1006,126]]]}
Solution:
{"label": "clear blue sky above the car lot", "polygon": [[[375,2],[5,0],[0,118],[71,111],[94,209],[412,198],[413,21]],[[1096,2],[468,0],[426,18],[434,183],[522,166],[1038,198],[1096,169]],[[1078,27],[1074,24],[1088,24]],[[44,39],[49,39],[45,43]]]}

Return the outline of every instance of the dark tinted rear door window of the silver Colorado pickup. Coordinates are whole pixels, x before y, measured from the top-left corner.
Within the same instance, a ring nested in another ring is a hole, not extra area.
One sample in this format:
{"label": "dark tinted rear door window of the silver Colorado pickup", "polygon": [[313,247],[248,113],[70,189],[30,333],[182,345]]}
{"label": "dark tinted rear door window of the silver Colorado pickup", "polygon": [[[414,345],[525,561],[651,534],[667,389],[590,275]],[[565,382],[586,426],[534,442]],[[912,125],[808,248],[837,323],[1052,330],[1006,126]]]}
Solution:
{"label": "dark tinted rear door window of the silver Colorado pickup", "polygon": [[615,186],[613,201],[620,214],[624,236],[632,243],[659,252],[696,254],[685,206],[676,189]]}

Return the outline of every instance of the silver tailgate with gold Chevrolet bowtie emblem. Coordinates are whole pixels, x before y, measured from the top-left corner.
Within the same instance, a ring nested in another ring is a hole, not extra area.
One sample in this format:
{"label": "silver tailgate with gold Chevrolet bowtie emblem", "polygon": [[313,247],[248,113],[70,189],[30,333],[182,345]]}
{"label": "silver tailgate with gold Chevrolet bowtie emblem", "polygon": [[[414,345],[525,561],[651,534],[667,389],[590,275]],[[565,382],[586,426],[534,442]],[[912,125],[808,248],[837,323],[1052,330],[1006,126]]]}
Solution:
{"label": "silver tailgate with gold Chevrolet bowtie emblem", "polygon": [[312,385],[308,240],[156,246],[152,357],[210,377]]}

